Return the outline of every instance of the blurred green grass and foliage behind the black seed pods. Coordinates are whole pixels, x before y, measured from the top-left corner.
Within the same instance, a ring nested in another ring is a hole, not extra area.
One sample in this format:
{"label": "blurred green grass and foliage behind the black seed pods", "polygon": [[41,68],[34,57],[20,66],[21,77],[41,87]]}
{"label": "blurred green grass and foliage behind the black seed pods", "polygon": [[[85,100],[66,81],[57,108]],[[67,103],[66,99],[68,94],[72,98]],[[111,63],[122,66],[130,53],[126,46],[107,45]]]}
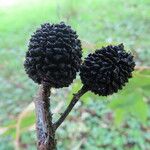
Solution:
{"label": "blurred green grass and foliage behind the black seed pods", "polygon": [[[0,0],[0,150],[35,150],[33,96],[24,72],[30,35],[41,23],[65,21],[77,30],[83,55],[124,43],[137,66],[150,65],[149,0]],[[150,70],[134,72],[125,89],[109,97],[86,94],[58,129],[59,150],[149,150]],[[81,86],[53,89],[54,119]]]}

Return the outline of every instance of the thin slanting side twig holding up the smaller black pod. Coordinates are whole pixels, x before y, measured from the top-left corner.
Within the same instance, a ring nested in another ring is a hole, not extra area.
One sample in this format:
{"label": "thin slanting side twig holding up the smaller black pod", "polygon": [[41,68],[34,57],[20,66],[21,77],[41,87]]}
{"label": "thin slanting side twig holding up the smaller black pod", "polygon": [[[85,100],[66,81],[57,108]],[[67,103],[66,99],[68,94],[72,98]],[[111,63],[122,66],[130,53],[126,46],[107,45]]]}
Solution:
{"label": "thin slanting side twig holding up the smaller black pod", "polygon": [[73,109],[74,105],[78,102],[79,98],[82,95],[84,95],[87,91],[88,91],[88,89],[85,86],[83,86],[76,94],[73,94],[73,98],[72,98],[70,104],[68,105],[68,107],[66,108],[64,113],[60,116],[58,121],[56,121],[54,123],[54,130],[56,130],[63,123],[63,121],[69,115],[70,111]]}

